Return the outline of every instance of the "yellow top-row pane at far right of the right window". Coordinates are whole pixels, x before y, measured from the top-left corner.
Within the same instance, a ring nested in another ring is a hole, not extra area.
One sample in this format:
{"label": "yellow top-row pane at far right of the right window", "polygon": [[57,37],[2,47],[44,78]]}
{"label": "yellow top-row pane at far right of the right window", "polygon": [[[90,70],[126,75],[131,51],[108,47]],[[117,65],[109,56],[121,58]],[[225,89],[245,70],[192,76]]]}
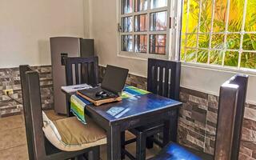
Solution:
{"label": "yellow top-row pane at far right of the right window", "polygon": [[256,31],[256,1],[247,0],[246,8],[246,31]]}

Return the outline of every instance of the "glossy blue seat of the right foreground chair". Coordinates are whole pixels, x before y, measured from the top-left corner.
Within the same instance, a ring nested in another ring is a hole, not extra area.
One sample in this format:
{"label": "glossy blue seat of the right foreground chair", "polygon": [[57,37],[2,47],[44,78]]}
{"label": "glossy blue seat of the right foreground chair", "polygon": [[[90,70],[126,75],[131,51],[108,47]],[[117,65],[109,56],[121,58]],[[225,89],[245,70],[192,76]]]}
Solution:
{"label": "glossy blue seat of the right foreground chair", "polygon": [[[198,152],[199,153],[199,152]],[[202,153],[204,154],[204,153]],[[186,147],[179,146],[177,143],[170,142],[169,145],[165,146],[162,151],[154,158],[150,160],[208,160],[213,159],[211,155],[194,154],[192,150],[186,149]]]}

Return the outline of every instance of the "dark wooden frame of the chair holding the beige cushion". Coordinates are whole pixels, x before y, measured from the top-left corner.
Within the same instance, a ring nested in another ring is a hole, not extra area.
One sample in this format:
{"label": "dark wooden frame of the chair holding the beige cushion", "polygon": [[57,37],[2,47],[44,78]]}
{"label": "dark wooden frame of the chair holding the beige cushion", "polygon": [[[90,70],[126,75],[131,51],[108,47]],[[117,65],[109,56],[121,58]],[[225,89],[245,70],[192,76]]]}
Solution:
{"label": "dark wooden frame of the chair holding the beige cushion", "polygon": [[29,158],[34,160],[61,160],[88,154],[89,159],[98,160],[99,146],[77,151],[62,151],[47,140],[42,130],[42,102],[38,71],[32,70],[30,66],[19,66],[19,70],[22,82],[22,100]]}

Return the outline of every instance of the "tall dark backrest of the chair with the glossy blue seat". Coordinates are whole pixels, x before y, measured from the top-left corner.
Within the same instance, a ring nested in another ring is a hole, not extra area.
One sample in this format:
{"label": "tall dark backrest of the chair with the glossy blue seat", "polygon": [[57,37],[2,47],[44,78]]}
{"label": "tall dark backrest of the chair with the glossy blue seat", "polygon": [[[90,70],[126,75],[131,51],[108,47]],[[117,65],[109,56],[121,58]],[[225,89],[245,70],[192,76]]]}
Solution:
{"label": "tall dark backrest of the chair with the glossy blue seat", "polygon": [[222,84],[214,159],[238,160],[248,76],[235,75]]}

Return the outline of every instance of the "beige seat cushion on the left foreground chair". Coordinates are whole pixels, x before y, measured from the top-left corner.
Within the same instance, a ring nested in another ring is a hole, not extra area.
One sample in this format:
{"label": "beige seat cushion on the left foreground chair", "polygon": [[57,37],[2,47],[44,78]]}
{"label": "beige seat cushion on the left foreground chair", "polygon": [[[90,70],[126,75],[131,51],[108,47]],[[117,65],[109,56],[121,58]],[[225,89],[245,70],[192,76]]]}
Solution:
{"label": "beige seat cushion on the left foreground chair", "polygon": [[[87,124],[77,118],[63,118],[54,122],[56,130],[48,123],[42,128],[46,138],[59,150],[75,151],[106,144],[106,132],[97,126],[93,120],[86,118]],[[58,138],[60,134],[60,138]]]}

